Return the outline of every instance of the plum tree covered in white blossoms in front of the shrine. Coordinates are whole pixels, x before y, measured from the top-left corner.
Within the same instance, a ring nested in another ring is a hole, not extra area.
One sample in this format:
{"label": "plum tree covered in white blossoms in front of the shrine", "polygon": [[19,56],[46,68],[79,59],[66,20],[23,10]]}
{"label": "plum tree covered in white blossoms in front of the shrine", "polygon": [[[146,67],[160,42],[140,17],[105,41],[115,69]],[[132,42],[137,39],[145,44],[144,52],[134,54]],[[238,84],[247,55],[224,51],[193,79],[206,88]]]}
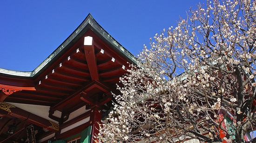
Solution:
{"label": "plum tree covered in white blossoms in front of the shrine", "polygon": [[244,143],[256,127],[255,66],[256,1],[206,0],[144,45],[97,139]]}

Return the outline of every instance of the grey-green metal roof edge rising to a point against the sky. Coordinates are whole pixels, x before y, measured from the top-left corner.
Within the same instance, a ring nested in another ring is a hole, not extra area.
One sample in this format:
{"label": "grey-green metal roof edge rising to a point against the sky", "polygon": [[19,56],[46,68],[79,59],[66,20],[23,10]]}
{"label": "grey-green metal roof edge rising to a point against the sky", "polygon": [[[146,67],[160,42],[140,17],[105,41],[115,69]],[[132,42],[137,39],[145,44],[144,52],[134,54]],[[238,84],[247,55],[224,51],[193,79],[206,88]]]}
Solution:
{"label": "grey-green metal roof edge rising to a point against the sky", "polygon": [[98,36],[102,38],[103,41],[111,45],[111,47],[121,54],[122,57],[126,58],[129,62],[136,64],[137,60],[126,48],[124,48],[119,42],[117,42],[105,29],[103,29],[89,13],[86,19],[78,26],[75,31],[50,55],[48,56],[39,66],[37,66],[34,71],[13,71],[0,68],[0,73],[18,76],[18,77],[34,77],[38,73],[43,72],[43,69],[47,69],[50,63],[54,62],[54,58],[61,56],[62,52],[68,50],[68,45],[74,43],[80,38],[82,34],[91,29]]}

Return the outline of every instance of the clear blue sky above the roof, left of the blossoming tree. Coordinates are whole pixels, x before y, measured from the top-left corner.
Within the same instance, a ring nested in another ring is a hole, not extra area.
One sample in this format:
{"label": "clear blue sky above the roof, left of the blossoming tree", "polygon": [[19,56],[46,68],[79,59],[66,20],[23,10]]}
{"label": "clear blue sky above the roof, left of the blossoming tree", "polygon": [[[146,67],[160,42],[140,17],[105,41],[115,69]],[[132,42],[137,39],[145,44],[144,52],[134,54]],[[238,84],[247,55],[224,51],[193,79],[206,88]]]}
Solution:
{"label": "clear blue sky above the roof, left of the blossoming tree", "polygon": [[128,51],[206,0],[1,0],[0,68],[33,71],[91,13]]}

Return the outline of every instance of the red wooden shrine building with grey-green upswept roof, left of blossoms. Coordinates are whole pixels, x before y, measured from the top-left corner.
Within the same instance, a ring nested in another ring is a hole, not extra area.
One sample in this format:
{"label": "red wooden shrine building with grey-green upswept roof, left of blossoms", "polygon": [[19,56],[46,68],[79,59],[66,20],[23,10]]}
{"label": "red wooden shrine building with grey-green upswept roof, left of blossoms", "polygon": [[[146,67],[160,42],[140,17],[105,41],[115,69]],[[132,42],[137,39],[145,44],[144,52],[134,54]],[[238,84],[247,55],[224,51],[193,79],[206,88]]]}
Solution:
{"label": "red wooden shrine building with grey-green upswept roof, left of blossoms", "polygon": [[0,68],[0,143],[95,143],[132,63],[88,14],[34,71]]}

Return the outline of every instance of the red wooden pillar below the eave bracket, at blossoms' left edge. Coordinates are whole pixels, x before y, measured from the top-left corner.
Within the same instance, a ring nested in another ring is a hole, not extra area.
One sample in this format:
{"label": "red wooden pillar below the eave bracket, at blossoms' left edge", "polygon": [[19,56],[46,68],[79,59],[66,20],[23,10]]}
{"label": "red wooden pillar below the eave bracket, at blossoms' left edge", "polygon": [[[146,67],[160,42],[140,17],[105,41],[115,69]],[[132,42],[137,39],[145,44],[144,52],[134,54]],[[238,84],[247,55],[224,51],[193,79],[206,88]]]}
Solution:
{"label": "red wooden pillar below the eave bracket, at blossoms' left edge", "polygon": [[99,123],[101,123],[101,110],[97,106],[92,109],[91,122],[92,122],[91,143],[98,143],[95,137],[99,134],[99,129],[100,129]]}

